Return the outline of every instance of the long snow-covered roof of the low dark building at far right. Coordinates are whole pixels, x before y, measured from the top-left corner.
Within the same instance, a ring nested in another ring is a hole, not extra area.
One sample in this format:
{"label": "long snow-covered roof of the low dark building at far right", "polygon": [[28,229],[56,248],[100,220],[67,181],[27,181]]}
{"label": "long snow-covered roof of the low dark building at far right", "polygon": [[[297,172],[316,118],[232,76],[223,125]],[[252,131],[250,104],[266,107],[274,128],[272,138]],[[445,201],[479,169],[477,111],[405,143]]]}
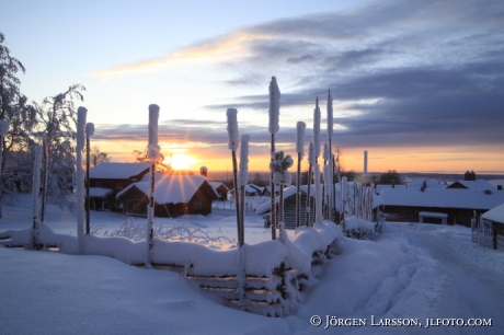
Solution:
{"label": "long snow-covered roof of the low dark building at far right", "polygon": [[424,192],[412,188],[387,188],[375,197],[374,206],[490,209],[501,204],[504,204],[504,192],[499,190],[485,194],[479,189],[460,188],[427,188]]}

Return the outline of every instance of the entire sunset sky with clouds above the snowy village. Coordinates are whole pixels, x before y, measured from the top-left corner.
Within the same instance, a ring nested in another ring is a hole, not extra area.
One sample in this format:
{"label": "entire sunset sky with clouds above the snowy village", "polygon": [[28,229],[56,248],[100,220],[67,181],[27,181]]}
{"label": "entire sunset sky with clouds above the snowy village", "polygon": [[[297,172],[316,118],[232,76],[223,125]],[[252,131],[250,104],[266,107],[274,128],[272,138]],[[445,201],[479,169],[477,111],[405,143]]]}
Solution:
{"label": "entire sunset sky with clouds above the snowy village", "polygon": [[[270,162],[268,84],[280,99],[277,150],[312,140],[316,99],[345,170],[504,173],[502,1],[5,1],[0,32],[41,103],[81,83],[92,143],[113,161],[147,147],[149,104],[179,169],[232,170],[226,111],[251,136],[250,171]],[[307,169],[306,159],[302,169]]]}

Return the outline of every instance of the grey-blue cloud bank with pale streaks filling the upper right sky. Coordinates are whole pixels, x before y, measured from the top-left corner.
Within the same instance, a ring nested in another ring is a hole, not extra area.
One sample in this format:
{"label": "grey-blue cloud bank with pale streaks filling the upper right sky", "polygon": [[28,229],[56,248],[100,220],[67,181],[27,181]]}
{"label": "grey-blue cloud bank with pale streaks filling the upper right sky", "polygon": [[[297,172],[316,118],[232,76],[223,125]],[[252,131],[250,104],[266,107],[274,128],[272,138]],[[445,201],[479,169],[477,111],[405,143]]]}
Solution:
{"label": "grey-blue cloud bank with pale streaks filling the upper right sky", "polygon": [[[345,147],[494,146],[504,142],[502,18],[504,3],[499,0],[374,1],[241,27],[163,57],[95,74],[209,62],[231,73],[230,79],[216,82],[233,88],[261,85],[262,91],[204,107],[254,113],[267,111],[264,88],[275,73],[282,108],[288,111],[312,111],[316,96],[322,104],[331,89],[337,105],[335,139]],[[267,143],[260,120],[244,125],[244,130]],[[165,126],[167,138],[227,142],[224,123],[175,120]],[[199,126],[205,131],[198,131]],[[138,134],[129,130],[131,136]],[[294,127],[280,125],[278,140],[288,143],[294,134]],[[111,129],[107,136],[119,135]]]}

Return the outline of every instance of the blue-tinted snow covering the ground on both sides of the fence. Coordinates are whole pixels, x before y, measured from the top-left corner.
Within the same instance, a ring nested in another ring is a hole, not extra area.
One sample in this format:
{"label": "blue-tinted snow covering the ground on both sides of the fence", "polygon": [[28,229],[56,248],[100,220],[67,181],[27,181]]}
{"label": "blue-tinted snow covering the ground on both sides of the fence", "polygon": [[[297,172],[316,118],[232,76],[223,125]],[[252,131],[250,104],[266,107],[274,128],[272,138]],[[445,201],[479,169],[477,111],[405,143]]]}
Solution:
{"label": "blue-tinted snow covering the ground on both sides of the fence", "polygon": [[[0,232],[31,226],[30,208],[23,204],[4,208]],[[46,218],[56,232],[76,235],[76,218],[68,210],[49,206]],[[185,224],[236,240],[236,218],[226,211],[164,220],[167,226]],[[118,229],[126,218],[93,211],[91,221],[104,224],[102,234]],[[245,243],[270,239],[262,224],[261,217],[247,217]],[[313,267],[316,278],[301,292],[297,313],[272,319],[226,308],[176,273],[137,268],[103,256],[0,246],[0,330],[2,334],[504,334],[504,253],[471,243],[469,229],[387,223],[374,241],[344,239],[337,250],[337,257]],[[317,316],[321,324],[313,326],[310,320],[317,322]],[[337,320],[331,322],[332,316]],[[404,319],[414,325],[383,325]],[[443,325],[489,320],[491,326]],[[438,325],[427,328],[427,323]]]}

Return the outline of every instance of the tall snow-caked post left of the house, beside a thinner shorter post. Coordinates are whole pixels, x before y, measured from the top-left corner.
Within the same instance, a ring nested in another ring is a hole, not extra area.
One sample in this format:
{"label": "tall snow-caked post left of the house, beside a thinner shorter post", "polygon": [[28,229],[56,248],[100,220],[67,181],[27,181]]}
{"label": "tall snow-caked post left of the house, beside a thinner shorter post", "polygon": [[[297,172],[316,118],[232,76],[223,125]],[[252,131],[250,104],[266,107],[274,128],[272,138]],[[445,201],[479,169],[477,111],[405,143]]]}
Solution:
{"label": "tall snow-caked post left of the house, beside a thinner shorter post", "polygon": [[77,241],[79,254],[84,254],[84,171],[82,169],[82,150],[84,149],[84,126],[88,109],[77,109],[77,176],[76,176],[76,199],[77,199]]}

